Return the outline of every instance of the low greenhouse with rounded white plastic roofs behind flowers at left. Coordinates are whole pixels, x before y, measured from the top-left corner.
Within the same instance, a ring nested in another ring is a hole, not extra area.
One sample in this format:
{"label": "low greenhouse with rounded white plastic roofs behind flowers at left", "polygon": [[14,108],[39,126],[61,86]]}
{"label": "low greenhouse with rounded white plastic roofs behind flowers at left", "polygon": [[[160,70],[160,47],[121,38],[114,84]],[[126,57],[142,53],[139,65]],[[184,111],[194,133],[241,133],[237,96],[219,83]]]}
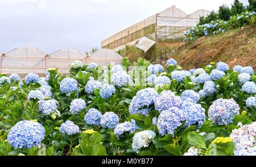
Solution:
{"label": "low greenhouse with rounded white plastic roofs behind flowers at left", "polygon": [[[101,51],[102,50],[102,51]],[[27,73],[37,73],[44,77],[48,68],[59,68],[61,74],[69,74],[73,61],[84,65],[96,62],[98,65],[120,64],[122,56],[110,49],[101,49],[95,56],[86,56],[75,49],[60,49],[46,54],[34,47],[18,47],[1,55],[1,73],[17,73],[24,78]]]}

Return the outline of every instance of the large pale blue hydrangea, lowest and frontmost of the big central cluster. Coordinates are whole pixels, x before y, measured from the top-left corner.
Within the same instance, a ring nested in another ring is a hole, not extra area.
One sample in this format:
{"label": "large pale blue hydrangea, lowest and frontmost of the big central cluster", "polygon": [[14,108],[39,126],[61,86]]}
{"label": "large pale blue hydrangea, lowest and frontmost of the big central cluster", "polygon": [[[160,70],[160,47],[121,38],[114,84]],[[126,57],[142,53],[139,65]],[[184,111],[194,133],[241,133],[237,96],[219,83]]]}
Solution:
{"label": "large pale blue hydrangea, lowest and frontmost of the big central cluster", "polygon": [[173,135],[176,128],[181,126],[181,122],[187,119],[187,113],[177,107],[171,107],[168,110],[162,111],[158,117],[158,123],[156,123],[159,135]]}

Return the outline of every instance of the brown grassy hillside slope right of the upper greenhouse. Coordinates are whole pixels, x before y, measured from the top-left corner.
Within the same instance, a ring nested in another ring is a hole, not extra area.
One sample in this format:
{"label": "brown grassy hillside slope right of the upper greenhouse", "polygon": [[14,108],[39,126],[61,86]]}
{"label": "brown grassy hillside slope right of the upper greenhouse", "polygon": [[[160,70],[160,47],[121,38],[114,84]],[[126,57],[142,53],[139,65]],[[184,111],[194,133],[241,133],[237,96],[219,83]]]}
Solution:
{"label": "brown grassy hillside slope right of the upper greenhouse", "polygon": [[230,68],[241,65],[256,70],[255,29],[255,26],[245,27],[221,35],[204,36],[181,45],[171,57],[185,70],[218,61],[226,62]]}

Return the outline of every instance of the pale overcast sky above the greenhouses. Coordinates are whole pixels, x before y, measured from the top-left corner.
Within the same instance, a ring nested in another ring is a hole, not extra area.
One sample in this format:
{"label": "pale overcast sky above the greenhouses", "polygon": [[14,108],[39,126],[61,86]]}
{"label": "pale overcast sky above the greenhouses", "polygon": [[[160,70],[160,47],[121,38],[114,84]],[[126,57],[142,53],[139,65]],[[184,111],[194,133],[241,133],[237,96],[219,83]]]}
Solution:
{"label": "pale overcast sky above the greenhouses", "polygon": [[191,14],[217,11],[224,3],[233,0],[0,0],[0,52],[28,45],[45,53],[64,48],[85,53],[172,5]]}

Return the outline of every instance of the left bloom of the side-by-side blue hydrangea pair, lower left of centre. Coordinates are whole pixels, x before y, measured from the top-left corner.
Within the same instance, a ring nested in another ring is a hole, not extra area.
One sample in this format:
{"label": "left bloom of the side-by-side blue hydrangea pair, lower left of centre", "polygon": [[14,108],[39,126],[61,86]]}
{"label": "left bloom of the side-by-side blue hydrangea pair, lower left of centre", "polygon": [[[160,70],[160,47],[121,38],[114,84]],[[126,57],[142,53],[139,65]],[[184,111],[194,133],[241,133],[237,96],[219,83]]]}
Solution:
{"label": "left bloom of the side-by-side blue hydrangea pair, lower left of centre", "polygon": [[90,108],[84,116],[84,121],[86,124],[98,126],[101,122],[101,116],[102,114],[100,111],[95,108]]}

